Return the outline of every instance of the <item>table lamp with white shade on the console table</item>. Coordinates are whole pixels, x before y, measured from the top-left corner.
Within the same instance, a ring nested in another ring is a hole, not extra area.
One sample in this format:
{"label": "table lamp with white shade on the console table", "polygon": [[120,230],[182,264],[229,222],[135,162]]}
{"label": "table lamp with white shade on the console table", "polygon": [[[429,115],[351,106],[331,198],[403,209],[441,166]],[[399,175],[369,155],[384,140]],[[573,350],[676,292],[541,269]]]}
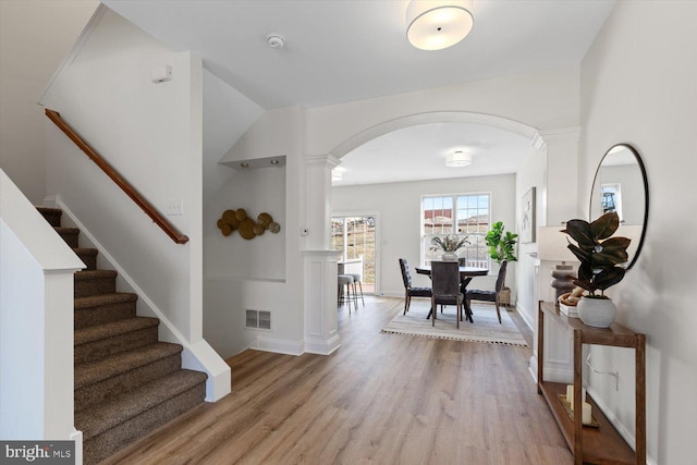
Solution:
{"label": "table lamp with white shade on the console table", "polygon": [[574,266],[567,262],[577,262],[576,256],[566,247],[566,234],[561,231],[564,227],[541,227],[537,229],[537,258],[548,261],[561,261],[561,265],[552,270],[551,286],[557,291],[555,299],[559,296],[571,292],[575,285],[576,278]]}

